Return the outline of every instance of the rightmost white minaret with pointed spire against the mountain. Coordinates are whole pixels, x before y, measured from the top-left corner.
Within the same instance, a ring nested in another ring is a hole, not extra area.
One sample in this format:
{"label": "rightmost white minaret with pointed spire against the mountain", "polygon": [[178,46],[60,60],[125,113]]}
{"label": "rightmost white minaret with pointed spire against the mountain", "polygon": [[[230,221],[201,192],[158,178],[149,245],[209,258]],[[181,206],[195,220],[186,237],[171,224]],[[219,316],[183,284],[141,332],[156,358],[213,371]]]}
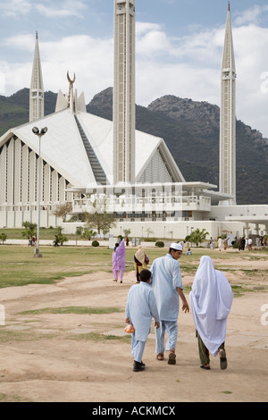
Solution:
{"label": "rightmost white minaret with pointed spire against the mountain", "polygon": [[225,29],[221,73],[220,192],[236,204],[236,66],[230,24],[230,4]]}

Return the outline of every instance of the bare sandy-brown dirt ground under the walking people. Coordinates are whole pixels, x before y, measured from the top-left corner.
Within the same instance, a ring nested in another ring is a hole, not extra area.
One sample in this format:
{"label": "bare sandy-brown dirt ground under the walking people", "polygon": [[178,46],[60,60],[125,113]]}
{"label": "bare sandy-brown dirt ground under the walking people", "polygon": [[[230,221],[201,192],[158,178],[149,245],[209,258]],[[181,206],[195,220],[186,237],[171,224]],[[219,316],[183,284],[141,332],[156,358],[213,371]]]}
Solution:
{"label": "bare sandy-brown dirt ground under the walking people", "polygon": [[[254,267],[258,264],[267,265],[267,262],[254,263]],[[231,281],[233,274],[226,275]],[[190,276],[184,278],[188,284],[192,280]],[[235,280],[238,280],[237,275]],[[218,357],[212,357],[210,371],[199,368],[190,313],[179,316],[177,364],[167,365],[167,359],[163,362],[155,359],[155,333],[152,331],[144,354],[147,368],[140,373],[132,372],[130,342],[87,338],[87,334],[92,333],[126,335],[124,312],[20,314],[46,307],[119,307],[124,311],[128,290],[134,282],[134,273],[126,273],[122,284],[114,283],[110,274],[98,273],[68,278],[55,285],[0,290],[0,304],[5,309],[5,325],[0,327],[1,400],[268,400],[268,325],[264,324],[264,321],[268,323],[268,314],[265,317],[261,311],[266,304],[268,313],[268,293],[262,290],[234,299],[227,328],[229,365],[226,371],[221,371]]]}

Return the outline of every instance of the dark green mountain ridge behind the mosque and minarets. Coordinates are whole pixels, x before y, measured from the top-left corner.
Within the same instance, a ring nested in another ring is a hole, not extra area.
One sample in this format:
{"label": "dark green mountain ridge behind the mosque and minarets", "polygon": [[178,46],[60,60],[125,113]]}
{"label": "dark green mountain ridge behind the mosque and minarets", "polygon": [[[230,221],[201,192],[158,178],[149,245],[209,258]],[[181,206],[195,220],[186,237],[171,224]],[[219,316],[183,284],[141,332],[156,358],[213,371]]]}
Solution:
{"label": "dark green mountain ridge behind the mosque and minarets", "polygon": [[[56,94],[45,93],[45,114],[54,113]],[[113,119],[113,88],[98,93],[87,111]],[[0,96],[0,135],[29,121],[29,89]],[[165,140],[186,181],[218,185],[220,109],[207,102],[174,96],[136,105],[137,130]],[[237,202],[267,204],[268,139],[237,121]]]}

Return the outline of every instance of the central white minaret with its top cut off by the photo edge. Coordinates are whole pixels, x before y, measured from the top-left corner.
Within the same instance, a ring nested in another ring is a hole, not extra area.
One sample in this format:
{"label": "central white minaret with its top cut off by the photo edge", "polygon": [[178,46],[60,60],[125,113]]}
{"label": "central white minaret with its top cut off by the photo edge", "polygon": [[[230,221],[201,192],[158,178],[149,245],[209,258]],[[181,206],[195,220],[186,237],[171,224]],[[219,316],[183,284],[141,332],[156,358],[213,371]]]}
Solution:
{"label": "central white minaret with its top cut off by the photo edge", "polygon": [[114,184],[135,181],[135,123],[135,0],[114,0]]}

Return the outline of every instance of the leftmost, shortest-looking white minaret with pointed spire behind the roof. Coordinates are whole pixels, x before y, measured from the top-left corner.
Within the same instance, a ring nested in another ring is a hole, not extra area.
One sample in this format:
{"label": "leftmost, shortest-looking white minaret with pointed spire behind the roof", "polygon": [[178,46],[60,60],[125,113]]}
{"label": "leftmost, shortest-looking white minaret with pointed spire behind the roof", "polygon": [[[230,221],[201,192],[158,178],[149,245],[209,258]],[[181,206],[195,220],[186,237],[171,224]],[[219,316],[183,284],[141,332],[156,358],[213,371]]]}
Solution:
{"label": "leftmost, shortest-looking white minaret with pointed spire behind the roof", "polygon": [[29,122],[44,116],[44,86],[38,46],[38,32],[29,88]]}

